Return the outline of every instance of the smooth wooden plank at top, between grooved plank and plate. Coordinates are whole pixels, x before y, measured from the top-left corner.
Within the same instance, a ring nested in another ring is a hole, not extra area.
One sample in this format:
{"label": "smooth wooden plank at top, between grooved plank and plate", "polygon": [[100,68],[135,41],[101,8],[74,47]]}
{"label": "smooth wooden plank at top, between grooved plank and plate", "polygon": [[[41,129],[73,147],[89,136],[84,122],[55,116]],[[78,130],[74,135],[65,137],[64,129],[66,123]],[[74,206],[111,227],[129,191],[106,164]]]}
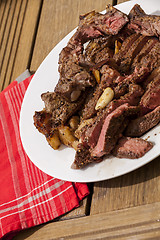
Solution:
{"label": "smooth wooden plank at top, between grooved plank and plate", "polygon": [[36,71],[52,48],[78,25],[80,14],[102,11],[109,3],[112,0],[45,0],[30,70]]}

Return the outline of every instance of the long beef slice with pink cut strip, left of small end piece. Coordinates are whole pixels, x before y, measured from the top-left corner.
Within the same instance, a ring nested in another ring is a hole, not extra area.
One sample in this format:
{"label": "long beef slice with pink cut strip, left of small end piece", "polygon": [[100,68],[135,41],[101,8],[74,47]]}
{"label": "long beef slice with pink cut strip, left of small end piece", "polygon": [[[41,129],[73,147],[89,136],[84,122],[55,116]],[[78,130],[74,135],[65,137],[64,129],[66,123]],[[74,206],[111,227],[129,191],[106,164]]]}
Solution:
{"label": "long beef slice with pink cut strip, left of small end piece", "polygon": [[98,142],[91,151],[94,157],[102,157],[109,154],[114,148],[117,140],[127,126],[129,116],[135,114],[135,108],[123,104],[107,115],[104,119]]}

